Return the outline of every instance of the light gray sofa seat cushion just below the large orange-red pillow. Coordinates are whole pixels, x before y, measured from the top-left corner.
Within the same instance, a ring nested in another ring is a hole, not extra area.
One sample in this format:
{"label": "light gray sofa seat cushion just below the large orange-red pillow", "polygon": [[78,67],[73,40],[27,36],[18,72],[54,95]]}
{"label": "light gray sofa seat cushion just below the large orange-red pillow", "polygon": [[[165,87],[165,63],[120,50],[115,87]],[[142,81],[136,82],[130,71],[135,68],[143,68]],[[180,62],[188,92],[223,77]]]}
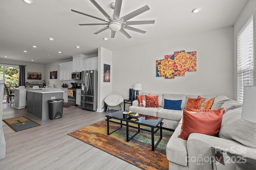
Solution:
{"label": "light gray sofa seat cushion just below the large orange-red pillow", "polygon": [[187,166],[187,141],[178,138],[178,135],[180,134],[180,128],[181,124],[178,125],[178,127],[175,129],[174,133],[172,134],[170,140],[166,145],[166,158],[176,164]]}

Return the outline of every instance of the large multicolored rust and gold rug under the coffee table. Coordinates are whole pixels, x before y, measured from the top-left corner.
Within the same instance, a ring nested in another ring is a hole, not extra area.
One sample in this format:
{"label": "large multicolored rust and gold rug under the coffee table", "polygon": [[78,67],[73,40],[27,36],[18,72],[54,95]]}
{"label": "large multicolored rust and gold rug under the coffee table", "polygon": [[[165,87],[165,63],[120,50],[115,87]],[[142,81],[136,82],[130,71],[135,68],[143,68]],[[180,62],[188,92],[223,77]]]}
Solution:
{"label": "large multicolored rust and gold rug under the coffee table", "polygon": [[[111,122],[109,125],[110,131],[120,127],[120,125]],[[136,129],[129,128],[130,137],[135,132]],[[166,158],[166,145],[172,133],[173,131],[171,130],[163,129],[163,138],[155,151],[151,150],[151,133],[141,130],[132,140],[126,142],[126,126],[107,135],[107,122],[105,120],[69,133],[68,135],[144,170],[168,170],[169,163]],[[159,137],[160,133],[158,132],[155,134],[155,143]]]}

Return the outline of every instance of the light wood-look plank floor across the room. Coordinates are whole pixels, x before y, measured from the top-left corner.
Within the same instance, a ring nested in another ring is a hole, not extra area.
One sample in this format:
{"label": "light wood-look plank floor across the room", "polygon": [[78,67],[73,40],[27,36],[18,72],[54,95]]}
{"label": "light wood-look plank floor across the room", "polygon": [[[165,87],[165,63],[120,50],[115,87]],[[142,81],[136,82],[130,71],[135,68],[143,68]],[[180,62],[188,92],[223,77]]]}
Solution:
{"label": "light wood-look plank floor across the room", "polygon": [[3,122],[6,158],[0,160],[0,170],[140,170],[67,135],[106,119],[106,112],[64,107],[62,118],[42,121],[9,105],[3,104],[3,119],[24,115],[40,126],[15,132]]}

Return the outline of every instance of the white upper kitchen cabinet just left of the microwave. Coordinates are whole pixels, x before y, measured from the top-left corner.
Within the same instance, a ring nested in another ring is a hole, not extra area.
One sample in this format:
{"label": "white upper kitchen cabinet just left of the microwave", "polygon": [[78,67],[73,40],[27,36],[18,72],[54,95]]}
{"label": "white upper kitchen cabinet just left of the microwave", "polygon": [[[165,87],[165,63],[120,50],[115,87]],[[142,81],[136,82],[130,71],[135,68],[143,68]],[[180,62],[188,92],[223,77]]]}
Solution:
{"label": "white upper kitchen cabinet just left of the microwave", "polygon": [[59,80],[72,80],[71,72],[73,69],[73,61],[60,63],[59,65],[60,65]]}

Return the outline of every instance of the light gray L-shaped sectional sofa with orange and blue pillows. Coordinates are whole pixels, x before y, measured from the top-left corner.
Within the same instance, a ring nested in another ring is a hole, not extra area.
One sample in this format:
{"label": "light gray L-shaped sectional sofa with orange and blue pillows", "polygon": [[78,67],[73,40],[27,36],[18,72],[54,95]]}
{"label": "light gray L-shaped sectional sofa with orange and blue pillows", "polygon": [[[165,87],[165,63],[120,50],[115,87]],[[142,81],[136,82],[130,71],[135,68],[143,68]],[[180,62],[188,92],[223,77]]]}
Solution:
{"label": "light gray L-shaped sectional sofa with orange and blue pillows", "polygon": [[[200,95],[215,98],[211,109],[224,108],[222,124],[218,137],[191,133],[188,140],[178,138],[181,131],[183,109],[186,108],[188,94],[157,94],[142,92],[142,95],[158,95],[158,108],[138,107],[138,100],[129,107],[130,111],[164,118],[163,127],[173,129],[174,133],[166,146],[166,157],[170,170],[212,170],[212,147],[256,159],[256,123],[241,119],[242,104],[226,96]],[[182,100],[182,110],[164,109],[164,99]],[[210,126],[210,125],[209,125]],[[241,152],[240,152],[241,151]],[[256,164],[252,169],[256,169]]]}

